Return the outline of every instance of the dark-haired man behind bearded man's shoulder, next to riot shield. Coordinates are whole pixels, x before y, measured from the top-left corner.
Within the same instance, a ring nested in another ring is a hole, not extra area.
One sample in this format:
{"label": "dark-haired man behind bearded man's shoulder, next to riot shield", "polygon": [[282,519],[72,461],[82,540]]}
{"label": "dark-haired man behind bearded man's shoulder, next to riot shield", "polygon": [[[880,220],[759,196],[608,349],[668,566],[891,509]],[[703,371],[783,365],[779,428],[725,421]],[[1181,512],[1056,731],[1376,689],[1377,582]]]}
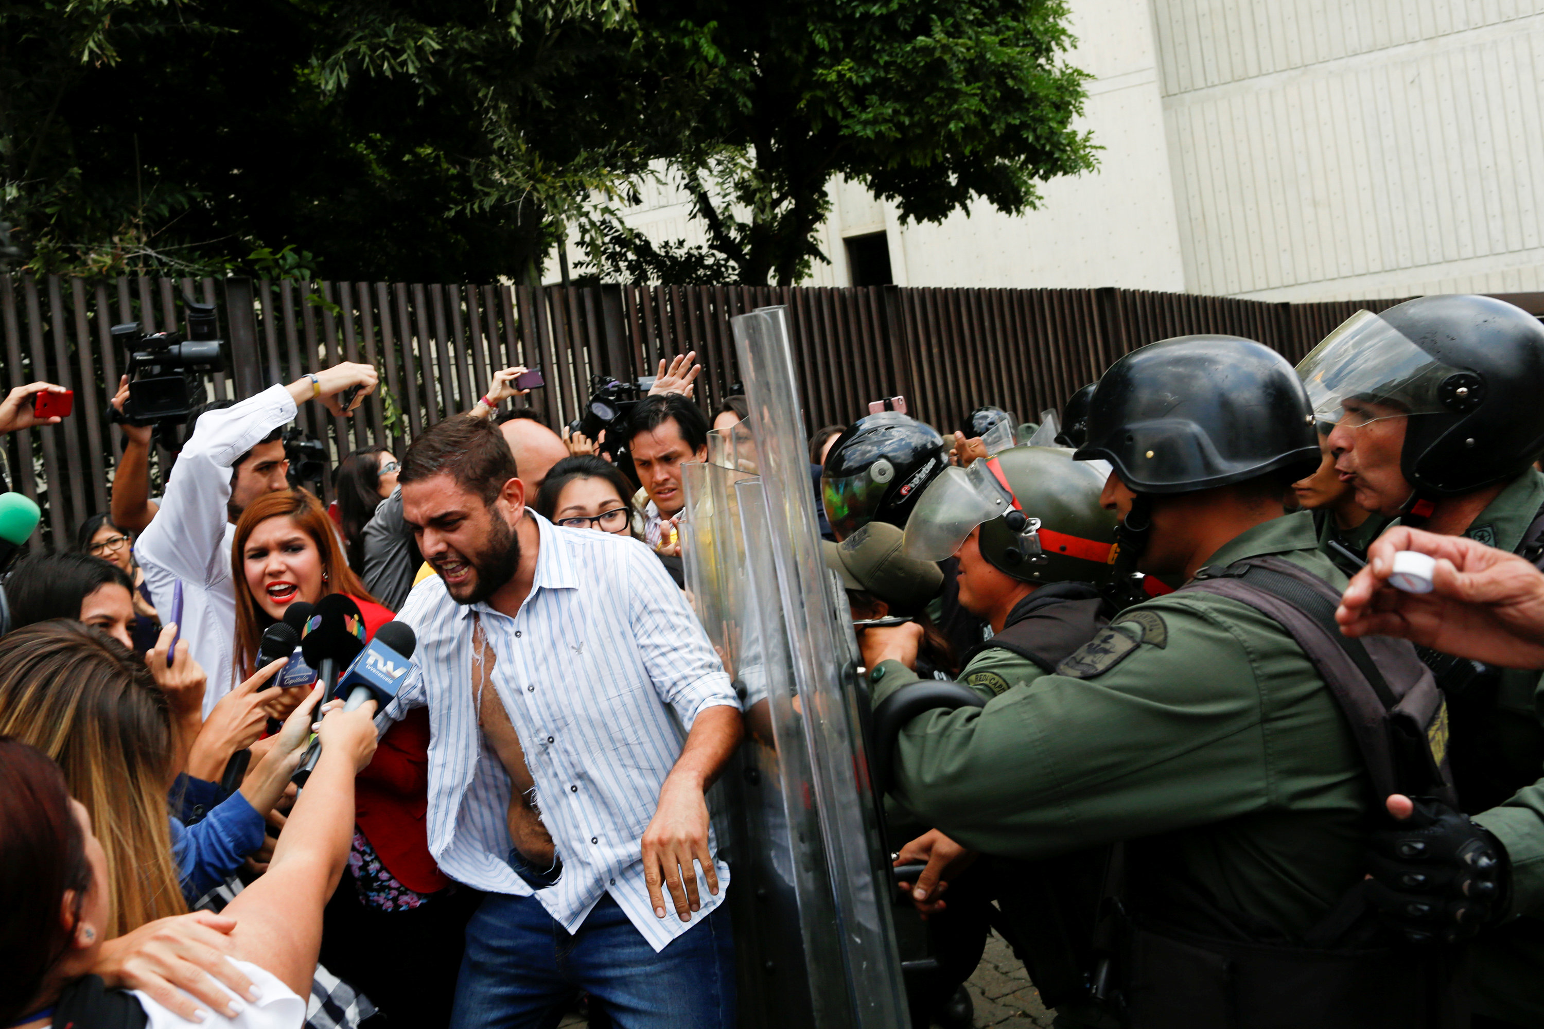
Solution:
{"label": "dark-haired man behind bearded man's shoulder, next to riot shield", "polygon": [[648,494],[644,540],[658,551],[679,554],[672,537],[686,508],[681,464],[707,460],[707,417],[679,393],[645,396],[628,417],[625,432],[633,469]]}

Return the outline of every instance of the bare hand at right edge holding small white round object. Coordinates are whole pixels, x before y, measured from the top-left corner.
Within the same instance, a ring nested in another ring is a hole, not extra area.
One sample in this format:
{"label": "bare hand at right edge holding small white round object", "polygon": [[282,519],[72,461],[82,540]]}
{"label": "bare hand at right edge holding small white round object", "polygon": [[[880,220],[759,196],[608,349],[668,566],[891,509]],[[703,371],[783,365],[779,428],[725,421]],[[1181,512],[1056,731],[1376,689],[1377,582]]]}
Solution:
{"label": "bare hand at right edge holding small white round object", "polygon": [[[1397,551],[1436,558],[1431,592],[1388,583]],[[1336,620],[1346,636],[1397,636],[1502,668],[1544,668],[1544,574],[1467,537],[1390,529],[1368,549]]]}

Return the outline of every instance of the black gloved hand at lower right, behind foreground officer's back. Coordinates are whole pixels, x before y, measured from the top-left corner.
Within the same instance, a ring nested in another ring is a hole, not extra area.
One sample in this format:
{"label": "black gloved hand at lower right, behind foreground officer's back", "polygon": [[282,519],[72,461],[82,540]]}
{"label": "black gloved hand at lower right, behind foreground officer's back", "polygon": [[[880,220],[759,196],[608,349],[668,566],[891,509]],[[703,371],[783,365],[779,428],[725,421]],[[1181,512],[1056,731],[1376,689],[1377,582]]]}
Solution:
{"label": "black gloved hand at lower right, behind foreground officer's back", "polygon": [[1505,910],[1507,852],[1467,815],[1430,798],[1411,801],[1410,818],[1371,836],[1366,898],[1410,943],[1468,940]]}

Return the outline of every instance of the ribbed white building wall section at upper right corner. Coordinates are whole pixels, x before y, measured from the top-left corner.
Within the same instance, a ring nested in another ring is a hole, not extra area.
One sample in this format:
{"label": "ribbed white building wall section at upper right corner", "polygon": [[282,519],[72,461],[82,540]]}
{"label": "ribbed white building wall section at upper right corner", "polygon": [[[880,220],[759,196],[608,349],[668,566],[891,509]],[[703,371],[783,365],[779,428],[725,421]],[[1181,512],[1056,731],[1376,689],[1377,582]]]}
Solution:
{"label": "ribbed white building wall section at upper right corner", "polygon": [[1541,288],[1544,2],[1153,0],[1186,288]]}

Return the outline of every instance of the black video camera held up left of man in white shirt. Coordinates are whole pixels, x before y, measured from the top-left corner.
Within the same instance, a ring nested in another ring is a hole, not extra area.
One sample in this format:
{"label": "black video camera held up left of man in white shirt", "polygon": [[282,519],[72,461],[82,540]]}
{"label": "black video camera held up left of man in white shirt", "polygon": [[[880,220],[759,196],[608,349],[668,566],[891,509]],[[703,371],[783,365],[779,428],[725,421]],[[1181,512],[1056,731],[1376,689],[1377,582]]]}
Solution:
{"label": "black video camera held up left of man in white shirt", "polygon": [[222,372],[224,341],[216,336],[213,304],[195,304],[182,298],[188,318],[188,336],[179,332],[145,335],[137,321],[113,326],[113,342],[128,352],[128,401],[114,421],[131,426],[174,426],[187,421],[204,403],[198,375]]}

